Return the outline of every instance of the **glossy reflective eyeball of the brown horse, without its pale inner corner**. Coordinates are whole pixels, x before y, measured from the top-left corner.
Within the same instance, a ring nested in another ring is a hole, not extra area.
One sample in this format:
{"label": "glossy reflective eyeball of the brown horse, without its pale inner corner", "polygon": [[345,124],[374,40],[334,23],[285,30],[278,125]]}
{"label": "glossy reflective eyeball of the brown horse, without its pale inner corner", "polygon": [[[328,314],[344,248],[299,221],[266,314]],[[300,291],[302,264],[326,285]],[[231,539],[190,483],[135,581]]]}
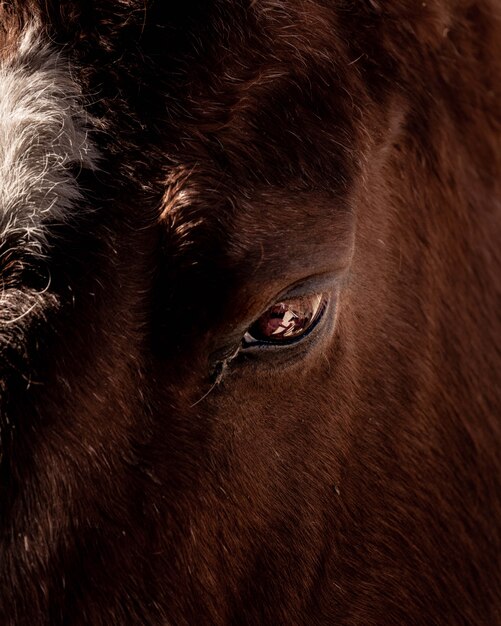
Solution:
{"label": "glossy reflective eyeball of the brown horse, without its pale inner corner", "polygon": [[261,315],[249,329],[255,339],[280,341],[293,339],[308,330],[321,312],[322,296],[308,296],[278,302]]}

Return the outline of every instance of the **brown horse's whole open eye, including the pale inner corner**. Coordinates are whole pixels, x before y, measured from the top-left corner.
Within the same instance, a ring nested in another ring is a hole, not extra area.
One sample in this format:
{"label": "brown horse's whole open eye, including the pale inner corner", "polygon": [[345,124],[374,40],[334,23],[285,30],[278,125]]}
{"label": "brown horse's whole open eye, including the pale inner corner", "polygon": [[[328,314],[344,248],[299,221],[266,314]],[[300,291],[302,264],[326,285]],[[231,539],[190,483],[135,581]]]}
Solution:
{"label": "brown horse's whole open eye, including the pale inner corner", "polygon": [[243,345],[288,344],[301,340],[320,321],[327,306],[324,294],[277,302],[245,333]]}

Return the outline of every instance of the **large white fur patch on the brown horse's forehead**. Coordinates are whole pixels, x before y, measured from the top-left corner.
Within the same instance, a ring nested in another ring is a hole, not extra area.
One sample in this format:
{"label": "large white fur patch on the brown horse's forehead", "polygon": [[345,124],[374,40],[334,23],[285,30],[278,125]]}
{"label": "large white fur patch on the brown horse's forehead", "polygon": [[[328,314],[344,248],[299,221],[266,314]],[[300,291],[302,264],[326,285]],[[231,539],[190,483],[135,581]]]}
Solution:
{"label": "large white fur patch on the brown horse's forehead", "polygon": [[81,92],[64,57],[33,25],[0,61],[0,246],[43,255],[47,222],[65,222],[94,169]]}

